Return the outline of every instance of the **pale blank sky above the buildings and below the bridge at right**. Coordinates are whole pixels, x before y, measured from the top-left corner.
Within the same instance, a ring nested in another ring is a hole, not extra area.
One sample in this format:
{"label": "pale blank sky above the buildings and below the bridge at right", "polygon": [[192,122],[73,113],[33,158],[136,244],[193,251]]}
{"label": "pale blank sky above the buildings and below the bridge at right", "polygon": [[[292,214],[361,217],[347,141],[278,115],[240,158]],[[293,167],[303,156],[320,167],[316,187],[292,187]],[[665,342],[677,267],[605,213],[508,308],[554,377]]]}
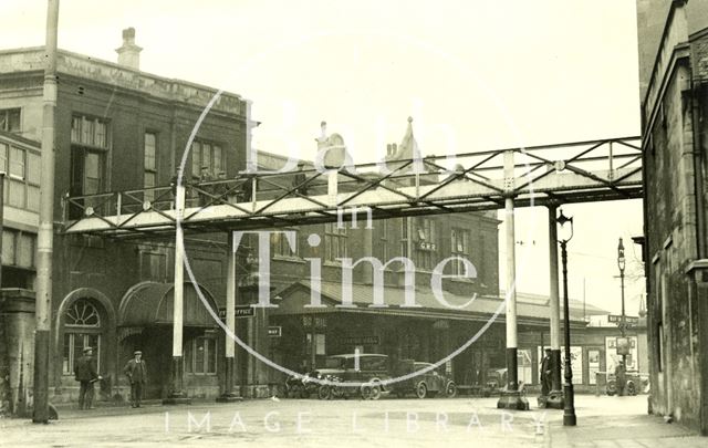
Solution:
{"label": "pale blank sky above the buildings and below the bridge at right", "polygon": [[[45,8],[0,1],[0,48],[42,45]],[[313,158],[326,121],[355,162],[373,162],[408,116],[435,155],[639,135],[634,0],[63,0],[59,46],[116,61],[127,27],[142,70],[251,100],[253,144],[273,153]],[[618,312],[622,237],[636,315],[641,201],[564,212],[571,296]],[[546,217],[518,210],[520,291],[548,293]]]}

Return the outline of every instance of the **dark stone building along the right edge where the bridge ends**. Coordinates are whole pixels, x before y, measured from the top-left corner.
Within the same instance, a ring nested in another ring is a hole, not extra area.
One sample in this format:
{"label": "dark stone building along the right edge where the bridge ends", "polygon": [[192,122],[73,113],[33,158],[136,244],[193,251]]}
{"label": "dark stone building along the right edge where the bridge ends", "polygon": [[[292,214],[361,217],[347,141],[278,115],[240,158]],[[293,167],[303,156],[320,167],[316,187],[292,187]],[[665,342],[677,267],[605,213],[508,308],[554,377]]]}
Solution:
{"label": "dark stone building along the right edge where the bridge ends", "polygon": [[650,409],[708,435],[708,3],[637,18]]}

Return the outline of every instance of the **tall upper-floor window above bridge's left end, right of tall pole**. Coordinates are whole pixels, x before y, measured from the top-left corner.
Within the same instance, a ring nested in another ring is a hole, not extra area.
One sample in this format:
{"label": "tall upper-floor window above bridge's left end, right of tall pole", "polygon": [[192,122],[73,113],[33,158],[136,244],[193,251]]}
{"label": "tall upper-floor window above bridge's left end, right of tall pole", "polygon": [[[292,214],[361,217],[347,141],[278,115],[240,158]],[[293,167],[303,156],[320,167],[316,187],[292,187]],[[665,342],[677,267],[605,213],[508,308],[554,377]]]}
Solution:
{"label": "tall upper-floor window above bridge's left end, right of tall pole", "polygon": [[[105,160],[108,124],[100,118],[74,116],[71,122],[71,196],[95,195],[106,188]],[[88,206],[88,204],[86,204]],[[73,205],[70,216],[83,213]]]}

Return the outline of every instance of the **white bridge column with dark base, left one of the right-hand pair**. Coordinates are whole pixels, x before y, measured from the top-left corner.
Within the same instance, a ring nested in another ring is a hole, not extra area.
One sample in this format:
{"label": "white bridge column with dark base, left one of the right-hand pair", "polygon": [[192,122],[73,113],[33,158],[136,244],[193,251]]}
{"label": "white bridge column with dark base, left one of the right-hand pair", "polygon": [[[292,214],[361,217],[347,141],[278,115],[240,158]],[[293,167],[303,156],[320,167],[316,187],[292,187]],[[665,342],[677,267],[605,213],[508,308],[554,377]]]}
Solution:
{"label": "white bridge column with dark base, left one of the right-hand pair", "polygon": [[509,196],[504,200],[504,232],[507,244],[507,389],[501,393],[497,408],[528,410],[529,402],[519,392],[517,357],[517,257],[513,216],[513,152],[504,153],[504,184]]}

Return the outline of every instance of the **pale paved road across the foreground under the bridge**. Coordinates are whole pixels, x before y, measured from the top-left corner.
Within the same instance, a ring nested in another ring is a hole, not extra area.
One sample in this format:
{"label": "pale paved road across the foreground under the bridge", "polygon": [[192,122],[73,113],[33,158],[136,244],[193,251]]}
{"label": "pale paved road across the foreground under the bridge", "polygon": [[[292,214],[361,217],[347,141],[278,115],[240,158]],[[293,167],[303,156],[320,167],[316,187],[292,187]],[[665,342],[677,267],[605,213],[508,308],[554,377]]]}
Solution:
{"label": "pale paved road across the foreground under the bridge", "polygon": [[579,396],[576,404],[575,428],[562,426],[562,410],[502,411],[494,398],[63,409],[50,425],[0,420],[0,446],[708,447],[708,438],[645,415],[645,396]]}

